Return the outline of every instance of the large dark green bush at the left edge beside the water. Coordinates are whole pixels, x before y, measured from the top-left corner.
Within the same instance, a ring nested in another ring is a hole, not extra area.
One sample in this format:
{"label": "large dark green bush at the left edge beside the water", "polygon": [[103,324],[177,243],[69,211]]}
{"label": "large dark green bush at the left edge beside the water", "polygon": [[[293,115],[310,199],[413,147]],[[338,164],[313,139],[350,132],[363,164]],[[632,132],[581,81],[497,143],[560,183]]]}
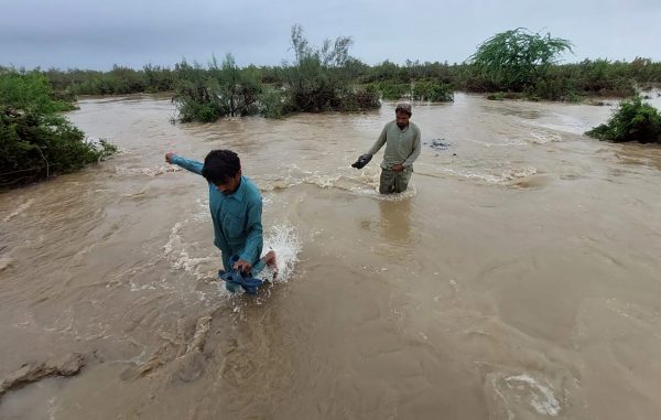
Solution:
{"label": "large dark green bush at the left edge beside the water", "polygon": [[87,141],[57,114],[68,109],[40,72],[0,69],[0,187],[72,172],[116,151]]}

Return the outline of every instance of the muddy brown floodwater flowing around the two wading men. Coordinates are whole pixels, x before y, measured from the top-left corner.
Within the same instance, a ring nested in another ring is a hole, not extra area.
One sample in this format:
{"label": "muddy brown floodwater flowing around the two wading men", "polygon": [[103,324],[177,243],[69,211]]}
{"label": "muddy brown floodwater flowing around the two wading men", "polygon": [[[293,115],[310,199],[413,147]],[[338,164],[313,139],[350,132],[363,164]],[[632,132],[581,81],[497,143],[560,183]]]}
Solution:
{"label": "muddy brown floodwater flowing around the two wading men", "polygon": [[[121,153],[0,195],[2,419],[657,419],[661,149],[582,136],[611,106],[414,104],[408,192],[377,194],[393,118],[171,125],[169,100],[68,118]],[[445,146],[432,148],[433,141]],[[229,148],[264,200],[278,281],[218,287],[205,181]]]}

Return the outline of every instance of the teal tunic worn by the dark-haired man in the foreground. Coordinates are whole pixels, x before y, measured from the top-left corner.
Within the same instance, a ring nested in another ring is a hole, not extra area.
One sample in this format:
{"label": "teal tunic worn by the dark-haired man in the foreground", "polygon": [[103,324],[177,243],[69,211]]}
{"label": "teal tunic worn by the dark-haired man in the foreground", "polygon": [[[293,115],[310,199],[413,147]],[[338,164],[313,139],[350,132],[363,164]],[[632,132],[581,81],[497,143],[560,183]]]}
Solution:
{"label": "teal tunic worn by the dark-haired man in the foreground", "polygon": [[[202,175],[203,163],[173,155],[175,163],[193,173]],[[252,274],[263,268],[260,256],[263,247],[261,224],[262,198],[259,189],[246,176],[241,176],[234,194],[225,195],[213,183],[209,184],[209,211],[214,222],[214,245],[223,252],[223,267],[228,271],[229,259],[238,255],[250,262]]]}

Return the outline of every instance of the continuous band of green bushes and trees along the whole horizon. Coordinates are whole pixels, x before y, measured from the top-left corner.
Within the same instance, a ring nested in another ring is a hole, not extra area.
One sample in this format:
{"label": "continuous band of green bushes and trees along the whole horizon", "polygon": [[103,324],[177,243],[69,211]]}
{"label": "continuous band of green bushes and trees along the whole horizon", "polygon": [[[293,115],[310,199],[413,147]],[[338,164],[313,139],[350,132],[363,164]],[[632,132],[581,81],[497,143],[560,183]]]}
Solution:
{"label": "continuous band of green bushes and trees along the whole horizon", "polygon": [[[379,107],[379,99],[452,101],[455,90],[489,94],[491,99],[582,101],[594,97],[630,97],[637,86],[661,83],[661,63],[585,60],[559,64],[572,52],[568,40],[514,29],[478,46],[464,63],[384,61],[367,65],[349,54],[353,41],[339,36],[321,47],[310,44],[300,25],[292,28],[294,60],[280,66],[239,67],[234,56],[221,64],[183,61],[173,69],[151,64],[142,69],[115,66],[109,72],[42,72],[54,95],[174,94],[181,121],[215,121],[223,116]],[[598,101],[597,101],[598,103]]]}

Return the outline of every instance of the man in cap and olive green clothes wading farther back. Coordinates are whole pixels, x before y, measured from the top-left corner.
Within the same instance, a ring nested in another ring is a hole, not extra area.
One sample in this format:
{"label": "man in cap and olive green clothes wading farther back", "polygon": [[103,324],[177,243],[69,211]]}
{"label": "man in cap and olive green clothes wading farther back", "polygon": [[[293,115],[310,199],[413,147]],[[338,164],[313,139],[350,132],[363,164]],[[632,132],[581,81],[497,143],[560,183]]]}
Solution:
{"label": "man in cap and olive green clothes wading farther back", "polygon": [[[395,119],[383,127],[381,136],[377,139],[371,149],[358,159],[369,162],[369,159],[386,144],[383,161],[381,162],[381,180],[379,183],[379,193],[391,194],[401,193],[409,186],[411,173],[413,172],[413,162],[420,155],[420,129],[416,125],[409,121],[411,118],[411,104],[401,103],[394,109]],[[354,168],[362,168],[362,165]]]}

